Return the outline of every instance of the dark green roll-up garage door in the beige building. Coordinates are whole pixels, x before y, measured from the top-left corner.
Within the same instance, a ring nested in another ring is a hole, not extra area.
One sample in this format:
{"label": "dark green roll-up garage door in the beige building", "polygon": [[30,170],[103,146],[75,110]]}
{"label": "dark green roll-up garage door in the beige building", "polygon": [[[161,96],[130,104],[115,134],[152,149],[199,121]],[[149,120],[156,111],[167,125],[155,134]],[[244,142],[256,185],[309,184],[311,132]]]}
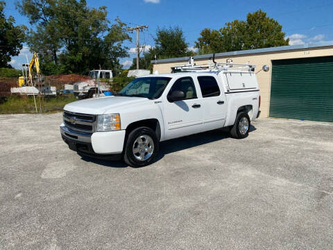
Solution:
{"label": "dark green roll-up garage door in the beige building", "polygon": [[272,64],[270,117],[333,122],[333,56]]}

